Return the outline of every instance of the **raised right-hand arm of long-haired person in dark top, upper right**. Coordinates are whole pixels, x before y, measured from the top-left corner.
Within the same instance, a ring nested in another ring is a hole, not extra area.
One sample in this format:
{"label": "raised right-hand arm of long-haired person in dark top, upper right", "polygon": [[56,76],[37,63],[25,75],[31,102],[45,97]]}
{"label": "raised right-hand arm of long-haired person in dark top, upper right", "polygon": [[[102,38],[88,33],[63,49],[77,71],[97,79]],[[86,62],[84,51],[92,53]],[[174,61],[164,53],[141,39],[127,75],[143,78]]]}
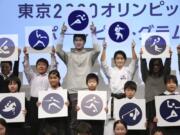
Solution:
{"label": "raised right-hand arm of long-haired person in dark top, upper right", "polygon": [[172,51],[169,50],[170,58],[166,58],[165,64],[164,64],[164,76],[169,75],[171,73],[171,57],[172,57]]}

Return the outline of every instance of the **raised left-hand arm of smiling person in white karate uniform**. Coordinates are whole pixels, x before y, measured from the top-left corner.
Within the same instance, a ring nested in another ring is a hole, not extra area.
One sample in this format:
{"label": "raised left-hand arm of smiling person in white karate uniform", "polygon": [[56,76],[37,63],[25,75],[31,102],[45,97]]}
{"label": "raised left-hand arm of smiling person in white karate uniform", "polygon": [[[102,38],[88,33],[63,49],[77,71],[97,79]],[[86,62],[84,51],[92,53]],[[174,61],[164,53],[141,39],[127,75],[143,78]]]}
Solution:
{"label": "raised left-hand arm of smiling person in white karate uniform", "polygon": [[107,48],[107,43],[103,41],[103,50],[101,54],[101,67],[102,71],[106,75],[107,78],[110,78],[110,69],[109,66],[106,63],[106,48]]}

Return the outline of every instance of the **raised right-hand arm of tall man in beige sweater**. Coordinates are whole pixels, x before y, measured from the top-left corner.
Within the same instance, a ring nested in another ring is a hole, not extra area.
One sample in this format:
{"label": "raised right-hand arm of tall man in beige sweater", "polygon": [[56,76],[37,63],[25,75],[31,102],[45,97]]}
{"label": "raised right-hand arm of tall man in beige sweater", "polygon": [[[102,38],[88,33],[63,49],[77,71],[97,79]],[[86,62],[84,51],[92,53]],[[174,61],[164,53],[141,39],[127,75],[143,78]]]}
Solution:
{"label": "raised right-hand arm of tall man in beige sweater", "polygon": [[100,47],[98,45],[98,40],[97,40],[97,37],[96,37],[96,27],[94,26],[93,23],[90,26],[90,29],[91,29],[91,36],[92,36],[92,43],[93,43],[92,65],[94,65],[97,57],[100,54]]}

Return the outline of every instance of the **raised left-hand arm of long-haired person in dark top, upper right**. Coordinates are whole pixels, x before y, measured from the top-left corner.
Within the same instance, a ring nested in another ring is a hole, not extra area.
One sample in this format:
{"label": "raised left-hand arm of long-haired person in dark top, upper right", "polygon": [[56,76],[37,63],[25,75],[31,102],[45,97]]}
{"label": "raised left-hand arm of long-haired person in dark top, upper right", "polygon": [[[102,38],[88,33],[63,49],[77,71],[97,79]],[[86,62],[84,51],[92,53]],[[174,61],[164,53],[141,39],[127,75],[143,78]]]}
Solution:
{"label": "raised left-hand arm of long-haired person in dark top, upper right", "polygon": [[140,52],[141,76],[142,76],[143,82],[145,83],[149,71],[148,71],[148,68],[147,68],[146,59],[142,58],[142,54],[143,54],[143,51],[141,49],[141,52]]}

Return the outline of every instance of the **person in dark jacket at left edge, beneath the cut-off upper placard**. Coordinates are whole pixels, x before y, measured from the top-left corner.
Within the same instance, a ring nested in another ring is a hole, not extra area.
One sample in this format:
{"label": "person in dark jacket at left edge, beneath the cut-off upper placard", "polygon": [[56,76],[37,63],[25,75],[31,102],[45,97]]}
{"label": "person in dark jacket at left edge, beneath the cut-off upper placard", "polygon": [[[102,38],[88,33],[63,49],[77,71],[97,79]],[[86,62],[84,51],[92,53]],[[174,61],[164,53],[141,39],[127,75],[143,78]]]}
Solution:
{"label": "person in dark jacket at left edge, beneath the cut-off upper placard", "polygon": [[1,73],[0,73],[0,93],[8,92],[8,84],[7,79],[12,76],[19,75],[19,60],[20,60],[21,50],[18,49],[18,60],[14,62],[14,66],[12,61],[2,61]]}

